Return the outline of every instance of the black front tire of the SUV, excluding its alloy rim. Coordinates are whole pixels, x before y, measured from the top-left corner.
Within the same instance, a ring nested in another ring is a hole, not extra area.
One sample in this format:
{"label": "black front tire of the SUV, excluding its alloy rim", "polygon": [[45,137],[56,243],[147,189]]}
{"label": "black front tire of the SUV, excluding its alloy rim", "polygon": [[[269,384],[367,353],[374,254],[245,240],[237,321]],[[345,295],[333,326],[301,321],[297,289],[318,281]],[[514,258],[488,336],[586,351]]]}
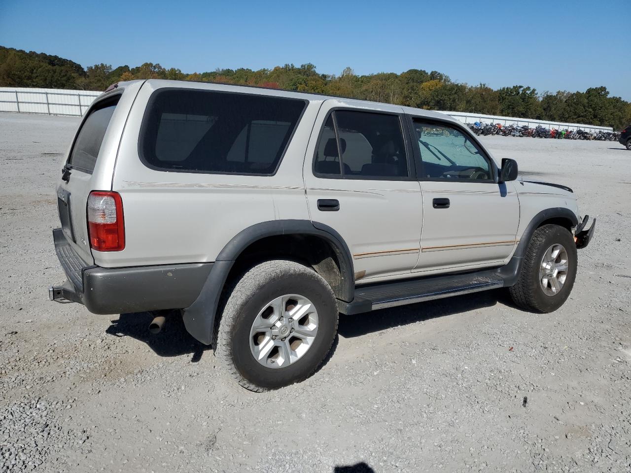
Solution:
{"label": "black front tire of the SUV, excluding its alloy rim", "polygon": [[[560,291],[555,295],[546,295],[540,284],[539,271],[545,252],[555,243],[562,245],[567,252],[567,274]],[[576,269],[577,251],[572,233],[558,225],[540,226],[528,244],[517,283],[509,288],[510,297],[519,307],[531,312],[553,312],[569,297]]]}

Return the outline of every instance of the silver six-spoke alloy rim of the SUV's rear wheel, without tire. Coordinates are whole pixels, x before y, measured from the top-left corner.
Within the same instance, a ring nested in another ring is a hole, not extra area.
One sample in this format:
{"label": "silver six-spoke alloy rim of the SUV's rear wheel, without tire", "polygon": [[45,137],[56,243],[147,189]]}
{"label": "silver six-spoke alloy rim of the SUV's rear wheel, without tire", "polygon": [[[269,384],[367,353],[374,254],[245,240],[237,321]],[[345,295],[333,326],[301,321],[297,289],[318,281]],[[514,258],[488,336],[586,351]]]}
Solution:
{"label": "silver six-spoke alloy rim of the SUV's rear wheel, without tire", "polygon": [[267,368],[286,368],[309,351],[317,329],[315,305],[305,296],[286,294],[257,314],[250,329],[250,351]]}

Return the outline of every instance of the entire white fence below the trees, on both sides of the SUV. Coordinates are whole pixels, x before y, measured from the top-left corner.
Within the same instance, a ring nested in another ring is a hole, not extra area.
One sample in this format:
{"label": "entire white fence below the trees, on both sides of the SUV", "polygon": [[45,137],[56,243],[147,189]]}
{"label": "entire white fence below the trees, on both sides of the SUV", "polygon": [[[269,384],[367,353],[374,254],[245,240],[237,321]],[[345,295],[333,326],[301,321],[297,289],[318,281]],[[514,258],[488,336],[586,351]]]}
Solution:
{"label": "entire white fence below the trees, on both sides of the SUV", "polygon": [[[32,89],[0,87],[0,112],[23,112],[30,114],[73,115],[80,117],[101,92],[90,90]],[[531,120],[498,115],[469,114],[466,112],[440,112],[451,115],[463,123],[501,123],[502,125],[526,125],[531,128],[543,126],[558,130],[613,131],[611,127],[582,125],[577,123]]]}

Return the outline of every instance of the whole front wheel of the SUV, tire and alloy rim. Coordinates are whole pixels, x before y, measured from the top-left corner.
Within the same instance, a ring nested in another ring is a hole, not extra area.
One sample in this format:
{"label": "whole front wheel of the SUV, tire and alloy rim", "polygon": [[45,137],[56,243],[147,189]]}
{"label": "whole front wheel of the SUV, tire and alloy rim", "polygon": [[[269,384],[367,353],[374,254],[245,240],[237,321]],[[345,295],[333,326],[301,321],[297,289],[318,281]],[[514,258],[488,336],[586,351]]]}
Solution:
{"label": "whole front wheel of the SUV, tire and alloy rim", "polygon": [[543,225],[533,233],[517,283],[509,288],[510,296],[526,310],[553,312],[569,297],[576,269],[572,233],[562,226]]}

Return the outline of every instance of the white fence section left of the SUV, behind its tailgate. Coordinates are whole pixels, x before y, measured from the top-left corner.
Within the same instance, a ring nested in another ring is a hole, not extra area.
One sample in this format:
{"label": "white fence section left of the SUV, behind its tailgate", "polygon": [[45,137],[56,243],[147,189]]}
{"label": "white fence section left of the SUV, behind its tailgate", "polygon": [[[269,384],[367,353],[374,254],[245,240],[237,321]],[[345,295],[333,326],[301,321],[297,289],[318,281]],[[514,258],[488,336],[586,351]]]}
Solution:
{"label": "white fence section left of the SUV, behind its tailgate", "polygon": [[91,90],[0,87],[0,112],[80,117],[99,95]]}

